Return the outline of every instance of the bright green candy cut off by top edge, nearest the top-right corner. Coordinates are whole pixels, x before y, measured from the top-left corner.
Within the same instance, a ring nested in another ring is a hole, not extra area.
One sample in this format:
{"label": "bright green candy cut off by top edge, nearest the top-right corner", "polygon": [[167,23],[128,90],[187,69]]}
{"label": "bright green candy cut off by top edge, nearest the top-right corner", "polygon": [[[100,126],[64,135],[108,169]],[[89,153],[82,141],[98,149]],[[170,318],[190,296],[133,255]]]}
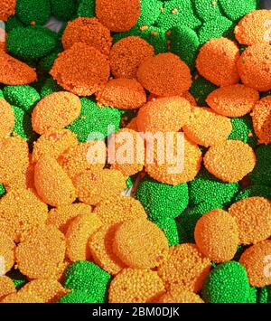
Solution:
{"label": "bright green candy cut off by top edge, nearest the top-right corner", "polygon": [[232,21],[237,21],[244,15],[258,8],[259,0],[220,0],[224,14]]}

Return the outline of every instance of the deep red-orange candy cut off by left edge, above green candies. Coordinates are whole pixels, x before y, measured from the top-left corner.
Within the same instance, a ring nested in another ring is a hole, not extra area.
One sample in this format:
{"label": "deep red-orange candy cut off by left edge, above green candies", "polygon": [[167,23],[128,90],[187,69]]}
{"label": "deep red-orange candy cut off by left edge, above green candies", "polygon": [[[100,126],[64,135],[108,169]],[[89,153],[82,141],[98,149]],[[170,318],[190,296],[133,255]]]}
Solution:
{"label": "deep red-orange candy cut off by left edge, above green candies", "polygon": [[26,63],[0,50],[0,83],[5,85],[27,85],[37,79],[36,71]]}

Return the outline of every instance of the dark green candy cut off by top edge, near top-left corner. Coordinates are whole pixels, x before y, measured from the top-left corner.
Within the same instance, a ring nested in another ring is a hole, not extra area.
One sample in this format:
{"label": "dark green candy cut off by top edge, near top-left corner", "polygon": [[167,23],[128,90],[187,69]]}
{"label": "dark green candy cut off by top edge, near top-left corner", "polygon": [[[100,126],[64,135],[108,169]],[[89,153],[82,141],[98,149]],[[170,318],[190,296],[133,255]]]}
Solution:
{"label": "dark green candy cut off by top edge, near top-left corner", "polygon": [[16,16],[23,24],[46,24],[51,15],[49,0],[17,0]]}

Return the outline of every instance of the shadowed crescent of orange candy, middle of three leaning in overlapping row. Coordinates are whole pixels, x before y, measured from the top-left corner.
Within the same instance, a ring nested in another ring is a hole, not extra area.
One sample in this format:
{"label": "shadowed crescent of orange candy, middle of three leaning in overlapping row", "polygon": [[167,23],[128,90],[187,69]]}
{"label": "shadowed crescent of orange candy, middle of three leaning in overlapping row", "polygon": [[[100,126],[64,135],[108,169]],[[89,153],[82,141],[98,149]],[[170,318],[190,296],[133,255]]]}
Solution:
{"label": "shadowed crescent of orange candy, middle of three leaning in overlapping row", "polygon": [[89,239],[89,249],[94,262],[112,275],[126,268],[126,264],[117,258],[112,248],[117,228],[118,224],[103,226]]}

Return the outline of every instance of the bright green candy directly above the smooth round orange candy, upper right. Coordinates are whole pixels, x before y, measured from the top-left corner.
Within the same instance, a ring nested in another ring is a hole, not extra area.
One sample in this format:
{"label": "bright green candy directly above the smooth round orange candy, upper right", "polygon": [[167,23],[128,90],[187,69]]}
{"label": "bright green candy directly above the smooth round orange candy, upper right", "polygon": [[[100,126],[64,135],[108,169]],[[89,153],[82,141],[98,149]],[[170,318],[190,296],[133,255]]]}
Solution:
{"label": "bright green candy directly above the smooth round orange candy, upper right", "polygon": [[200,43],[208,42],[212,38],[226,37],[234,40],[234,24],[224,16],[209,20],[201,25],[198,36]]}

